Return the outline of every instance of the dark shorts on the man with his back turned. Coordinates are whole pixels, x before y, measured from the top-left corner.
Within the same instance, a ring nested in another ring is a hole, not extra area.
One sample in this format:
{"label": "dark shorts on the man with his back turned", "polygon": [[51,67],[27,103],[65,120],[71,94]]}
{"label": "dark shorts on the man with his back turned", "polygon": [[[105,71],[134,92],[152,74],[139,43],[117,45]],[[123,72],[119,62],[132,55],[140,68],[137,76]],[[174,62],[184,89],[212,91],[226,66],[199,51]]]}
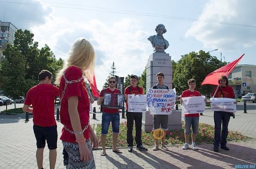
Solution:
{"label": "dark shorts on the man with his back turned", "polygon": [[38,149],[45,147],[45,140],[47,141],[48,149],[57,149],[57,125],[42,127],[42,126],[33,126],[35,138],[36,138],[36,146]]}

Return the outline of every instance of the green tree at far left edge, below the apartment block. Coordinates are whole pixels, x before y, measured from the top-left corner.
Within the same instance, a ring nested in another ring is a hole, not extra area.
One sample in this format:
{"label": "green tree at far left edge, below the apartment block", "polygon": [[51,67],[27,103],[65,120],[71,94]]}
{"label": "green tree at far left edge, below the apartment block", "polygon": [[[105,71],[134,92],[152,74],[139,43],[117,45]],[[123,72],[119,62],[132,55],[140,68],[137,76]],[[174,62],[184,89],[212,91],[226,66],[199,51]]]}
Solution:
{"label": "green tree at far left edge, below the apartment block", "polygon": [[7,44],[3,54],[5,58],[1,63],[0,88],[5,95],[17,99],[25,93],[23,86],[25,84],[26,60],[20,50],[10,44]]}

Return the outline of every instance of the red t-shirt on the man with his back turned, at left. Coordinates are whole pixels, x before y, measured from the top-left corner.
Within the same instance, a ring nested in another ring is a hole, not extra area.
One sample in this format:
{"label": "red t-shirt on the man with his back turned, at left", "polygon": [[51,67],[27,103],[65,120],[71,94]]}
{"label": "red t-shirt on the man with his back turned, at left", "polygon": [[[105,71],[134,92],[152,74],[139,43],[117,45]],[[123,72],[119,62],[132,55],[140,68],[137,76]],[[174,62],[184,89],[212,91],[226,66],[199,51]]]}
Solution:
{"label": "red t-shirt on the man with his back turned, at left", "polygon": [[59,89],[51,84],[38,84],[27,92],[25,103],[33,106],[33,122],[37,126],[55,126],[54,100]]}

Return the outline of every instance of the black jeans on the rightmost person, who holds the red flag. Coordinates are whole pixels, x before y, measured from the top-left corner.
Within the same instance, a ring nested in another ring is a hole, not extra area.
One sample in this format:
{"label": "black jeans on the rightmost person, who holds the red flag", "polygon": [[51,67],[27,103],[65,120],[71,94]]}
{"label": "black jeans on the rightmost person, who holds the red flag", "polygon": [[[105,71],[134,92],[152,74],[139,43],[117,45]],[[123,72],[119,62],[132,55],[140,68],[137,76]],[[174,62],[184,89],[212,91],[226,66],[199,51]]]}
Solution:
{"label": "black jeans on the rightmost person, who holds the red flag", "polygon": [[[214,123],[215,123],[215,132],[214,132],[214,146],[219,147],[226,146],[227,144],[227,134],[228,134],[228,123],[230,120],[230,113],[228,112],[214,112]],[[221,131],[221,122],[222,122],[222,131]]]}

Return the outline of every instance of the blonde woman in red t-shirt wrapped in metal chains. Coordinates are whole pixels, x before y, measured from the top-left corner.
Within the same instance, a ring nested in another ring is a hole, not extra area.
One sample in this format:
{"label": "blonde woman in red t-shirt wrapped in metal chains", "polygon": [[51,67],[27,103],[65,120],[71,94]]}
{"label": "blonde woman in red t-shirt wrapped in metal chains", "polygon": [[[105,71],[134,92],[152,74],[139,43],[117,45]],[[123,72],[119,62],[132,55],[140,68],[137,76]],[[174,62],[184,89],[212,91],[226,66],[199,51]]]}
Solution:
{"label": "blonde woman in red t-shirt wrapped in metal chains", "polygon": [[69,169],[96,168],[92,146],[98,148],[99,140],[89,122],[90,103],[94,100],[84,83],[84,77],[92,78],[94,60],[91,43],[85,39],[76,40],[55,82],[60,86],[60,117],[64,125],[60,139],[69,154]]}

